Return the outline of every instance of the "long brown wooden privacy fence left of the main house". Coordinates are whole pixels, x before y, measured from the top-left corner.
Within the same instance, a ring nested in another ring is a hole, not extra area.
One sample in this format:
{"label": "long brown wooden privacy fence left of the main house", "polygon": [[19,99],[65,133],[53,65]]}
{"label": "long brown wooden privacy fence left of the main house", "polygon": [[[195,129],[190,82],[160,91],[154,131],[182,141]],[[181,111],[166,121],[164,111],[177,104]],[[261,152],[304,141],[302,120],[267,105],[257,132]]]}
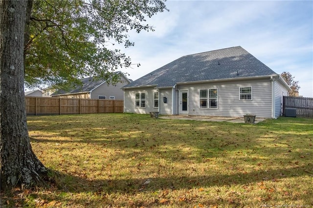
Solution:
{"label": "long brown wooden privacy fence left of the main house", "polygon": [[26,114],[122,113],[124,101],[25,97]]}

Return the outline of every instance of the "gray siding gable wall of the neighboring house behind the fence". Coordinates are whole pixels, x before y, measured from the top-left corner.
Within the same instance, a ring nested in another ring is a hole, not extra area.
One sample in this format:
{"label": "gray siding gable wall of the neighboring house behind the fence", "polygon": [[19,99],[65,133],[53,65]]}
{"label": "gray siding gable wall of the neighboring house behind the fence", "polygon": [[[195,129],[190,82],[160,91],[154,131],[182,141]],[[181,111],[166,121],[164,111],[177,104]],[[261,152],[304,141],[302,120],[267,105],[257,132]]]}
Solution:
{"label": "gray siding gable wall of the neighboring house behind the fence", "polygon": [[107,100],[110,100],[110,96],[114,96],[114,100],[123,100],[124,92],[121,87],[125,86],[129,82],[126,81],[124,77],[121,76],[121,82],[116,83],[116,85],[103,83],[97,88],[92,90],[90,99],[98,99],[98,96],[106,96]]}

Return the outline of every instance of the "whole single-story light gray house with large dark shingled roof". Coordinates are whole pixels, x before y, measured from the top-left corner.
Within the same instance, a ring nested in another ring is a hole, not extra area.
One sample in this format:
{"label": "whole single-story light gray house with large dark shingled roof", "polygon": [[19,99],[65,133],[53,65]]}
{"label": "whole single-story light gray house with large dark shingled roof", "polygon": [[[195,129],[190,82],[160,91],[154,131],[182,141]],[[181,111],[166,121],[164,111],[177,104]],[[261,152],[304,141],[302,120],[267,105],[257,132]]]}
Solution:
{"label": "whole single-story light gray house with large dark shingled roof", "polygon": [[124,112],[264,118],[281,116],[291,90],[241,46],[183,56],[123,89]]}

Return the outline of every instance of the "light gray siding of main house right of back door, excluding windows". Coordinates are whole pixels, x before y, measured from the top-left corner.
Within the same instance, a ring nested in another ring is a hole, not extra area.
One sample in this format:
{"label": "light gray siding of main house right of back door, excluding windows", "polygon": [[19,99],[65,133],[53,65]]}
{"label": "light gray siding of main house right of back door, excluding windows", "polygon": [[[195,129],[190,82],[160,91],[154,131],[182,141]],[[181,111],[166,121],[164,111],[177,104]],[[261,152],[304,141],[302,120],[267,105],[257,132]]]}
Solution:
{"label": "light gray siding of main house right of back door, excluding windows", "polygon": [[[239,87],[252,87],[252,100],[239,100]],[[271,81],[258,79],[220,83],[184,84],[179,90],[188,90],[189,115],[243,117],[271,117]],[[218,89],[218,108],[200,108],[200,89]]]}

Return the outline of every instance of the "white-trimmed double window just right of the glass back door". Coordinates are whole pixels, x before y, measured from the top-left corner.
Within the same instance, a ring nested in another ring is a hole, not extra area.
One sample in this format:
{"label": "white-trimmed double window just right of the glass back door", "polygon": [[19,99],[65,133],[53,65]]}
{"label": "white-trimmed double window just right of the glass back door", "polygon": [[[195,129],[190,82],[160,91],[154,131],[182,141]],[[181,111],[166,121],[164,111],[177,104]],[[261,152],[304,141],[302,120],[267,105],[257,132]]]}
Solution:
{"label": "white-trimmed double window just right of the glass back door", "polygon": [[200,108],[218,108],[218,89],[201,89]]}

